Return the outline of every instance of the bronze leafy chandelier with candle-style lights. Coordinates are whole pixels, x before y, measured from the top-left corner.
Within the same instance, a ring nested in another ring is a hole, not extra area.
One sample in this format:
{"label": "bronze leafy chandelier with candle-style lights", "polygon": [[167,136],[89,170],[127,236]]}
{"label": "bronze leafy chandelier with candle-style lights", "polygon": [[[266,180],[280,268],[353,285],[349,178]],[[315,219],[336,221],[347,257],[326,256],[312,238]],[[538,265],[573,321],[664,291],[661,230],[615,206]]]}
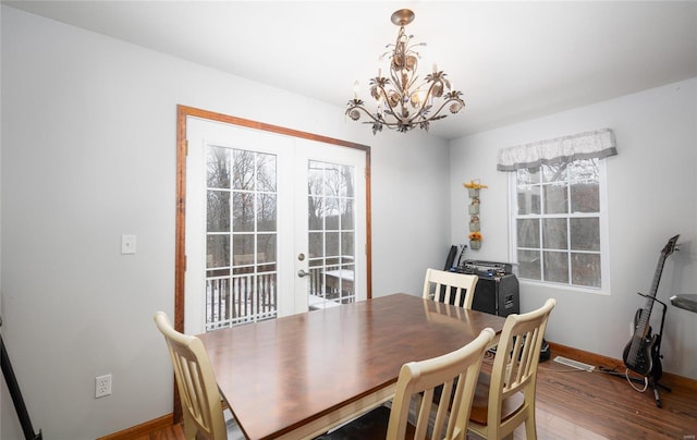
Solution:
{"label": "bronze leafy chandelier with candle-style lights", "polygon": [[370,112],[365,102],[358,99],[357,82],[354,83],[354,98],[348,101],[346,115],[354,121],[360,119],[362,112],[371,121],[372,134],[381,132],[383,126],[398,132],[408,132],[418,126],[428,131],[432,121],[445,118],[441,111],[448,106],[451,113],[457,113],[465,107],[462,93],[451,88],[450,81],[445,80],[445,72],[439,71],[433,64],[433,71],[426,75],[425,81],[418,82],[416,70],[419,53],[415,51],[425,42],[413,44],[413,35],[406,35],[404,26],[414,21],[414,12],[402,9],[392,14],[392,23],[400,26],[400,33],[393,45],[387,45],[389,49],[386,56],[390,58],[390,75],[382,76],[382,70],[378,70],[378,76],[370,80],[370,96],[377,101],[377,109]]}

